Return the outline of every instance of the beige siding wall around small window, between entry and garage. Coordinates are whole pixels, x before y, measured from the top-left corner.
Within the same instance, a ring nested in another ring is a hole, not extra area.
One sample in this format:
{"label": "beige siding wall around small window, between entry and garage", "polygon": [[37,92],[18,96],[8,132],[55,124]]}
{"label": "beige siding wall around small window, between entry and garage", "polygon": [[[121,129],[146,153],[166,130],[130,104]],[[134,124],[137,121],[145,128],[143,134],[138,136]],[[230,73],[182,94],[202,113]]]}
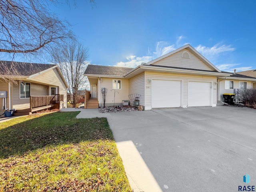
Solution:
{"label": "beige siding wall around small window, between entry and garage", "polygon": [[[121,80],[121,89],[112,90],[112,80]],[[99,85],[99,84],[98,84]],[[128,100],[129,94],[129,80],[124,78],[102,78],[102,82],[100,83],[100,89],[107,88],[108,92],[106,95],[106,106],[114,105],[114,93],[115,94],[115,105],[122,103],[122,100]],[[100,96],[101,103],[102,102],[102,94],[101,92],[98,94]],[[113,101],[113,102],[112,102]]]}

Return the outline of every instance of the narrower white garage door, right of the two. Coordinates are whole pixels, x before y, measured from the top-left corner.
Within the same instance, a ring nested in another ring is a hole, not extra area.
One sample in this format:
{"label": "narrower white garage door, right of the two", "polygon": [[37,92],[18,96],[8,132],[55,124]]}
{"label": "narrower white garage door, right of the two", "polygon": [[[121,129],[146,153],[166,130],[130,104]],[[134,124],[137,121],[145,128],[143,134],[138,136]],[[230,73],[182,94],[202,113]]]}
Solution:
{"label": "narrower white garage door, right of the two", "polygon": [[210,106],[211,83],[188,82],[188,106]]}

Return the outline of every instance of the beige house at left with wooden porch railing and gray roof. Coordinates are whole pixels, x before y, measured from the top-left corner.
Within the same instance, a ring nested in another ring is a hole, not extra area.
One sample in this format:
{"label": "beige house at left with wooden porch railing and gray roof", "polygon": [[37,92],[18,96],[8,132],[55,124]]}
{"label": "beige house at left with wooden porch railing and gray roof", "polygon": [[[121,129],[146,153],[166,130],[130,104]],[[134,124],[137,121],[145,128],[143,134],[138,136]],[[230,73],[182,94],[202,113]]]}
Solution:
{"label": "beige house at left with wooden porch railing and gray roof", "polygon": [[[11,67],[12,62],[0,61],[0,91],[7,92],[6,99],[0,98],[2,110],[15,108],[15,114],[31,114],[46,108],[67,107],[68,85],[57,65],[22,62],[13,64],[18,74]],[[6,67],[9,68],[8,75],[3,70]]]}

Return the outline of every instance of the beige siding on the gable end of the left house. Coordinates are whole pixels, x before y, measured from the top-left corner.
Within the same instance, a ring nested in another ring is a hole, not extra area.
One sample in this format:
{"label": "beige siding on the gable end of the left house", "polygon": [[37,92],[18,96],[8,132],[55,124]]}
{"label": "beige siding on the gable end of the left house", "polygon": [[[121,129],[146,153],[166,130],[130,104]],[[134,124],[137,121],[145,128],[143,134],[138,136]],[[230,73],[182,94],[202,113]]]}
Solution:
{"label": "beige siding on the gable end of the left house", "polygon": [[[63,107],[67,107],[67,88],[56,68],[32,77],[30,80],[58,87],[58,94],[64,95]],[[60,108],[62,108],[62,103],[60,104]]]}

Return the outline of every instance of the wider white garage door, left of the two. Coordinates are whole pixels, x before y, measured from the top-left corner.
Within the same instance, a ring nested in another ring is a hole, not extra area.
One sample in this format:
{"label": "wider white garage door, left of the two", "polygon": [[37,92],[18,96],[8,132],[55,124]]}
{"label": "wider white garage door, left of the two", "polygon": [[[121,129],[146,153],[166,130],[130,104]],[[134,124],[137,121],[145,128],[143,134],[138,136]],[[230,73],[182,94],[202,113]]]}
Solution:
{"label": "wider white garage door, left of the two", "polygon": [[152,108],[180,107],[181,81],[152,80]]}

